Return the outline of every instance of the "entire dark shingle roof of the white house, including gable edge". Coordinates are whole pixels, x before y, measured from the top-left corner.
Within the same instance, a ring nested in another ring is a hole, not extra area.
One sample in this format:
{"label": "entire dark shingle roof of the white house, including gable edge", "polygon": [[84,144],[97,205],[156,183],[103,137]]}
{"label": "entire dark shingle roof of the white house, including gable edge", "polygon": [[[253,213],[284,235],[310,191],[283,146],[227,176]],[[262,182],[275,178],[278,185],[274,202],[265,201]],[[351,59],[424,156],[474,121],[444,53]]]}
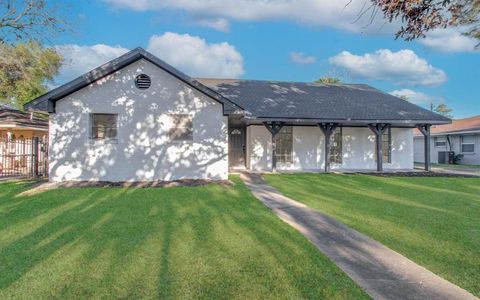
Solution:
{"label": "entire dark shingle roof of the white house, including gable edge", "polygon": [[[397,121],[446,124],[447,119],[367,85],[257,80],[194,80],[142,48],[134,49],[27,103],[25,109],[55,111],[55,102],[125,66],[145,59],[222,103],[224,114],[247,118],[328,121]],[[393,122],[392,122],[393,123]]]}

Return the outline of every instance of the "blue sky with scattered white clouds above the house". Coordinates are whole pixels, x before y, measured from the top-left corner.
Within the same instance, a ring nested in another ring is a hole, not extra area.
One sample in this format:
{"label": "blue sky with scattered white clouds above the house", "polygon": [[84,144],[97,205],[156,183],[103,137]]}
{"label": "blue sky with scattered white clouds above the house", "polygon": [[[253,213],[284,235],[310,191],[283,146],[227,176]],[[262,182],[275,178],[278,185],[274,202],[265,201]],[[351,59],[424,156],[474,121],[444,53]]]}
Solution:
{"label": "blue sky with scattered white clouds above the house", "polygon": [[[480,51],[458,29],[395,40],[368,0],[62,1],[71,30],[51,40],[62,84],[142,47],[192,77],[367,83],[455,118],[480,114]],[[364,9],[364,8],[363,8]]]}

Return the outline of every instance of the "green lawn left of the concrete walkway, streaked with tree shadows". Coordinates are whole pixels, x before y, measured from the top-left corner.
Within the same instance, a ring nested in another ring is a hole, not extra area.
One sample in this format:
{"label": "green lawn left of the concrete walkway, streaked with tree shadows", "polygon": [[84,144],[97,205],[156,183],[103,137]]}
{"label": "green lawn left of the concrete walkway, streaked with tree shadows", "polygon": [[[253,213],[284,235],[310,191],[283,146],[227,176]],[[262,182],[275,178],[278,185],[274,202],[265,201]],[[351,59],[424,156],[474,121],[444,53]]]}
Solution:
{"label": "green lawn left of the concrete walkway, streaked with tree shadows", "polygon": [[302,235],[234,186],[0,183],[0,299],[357,299]]}

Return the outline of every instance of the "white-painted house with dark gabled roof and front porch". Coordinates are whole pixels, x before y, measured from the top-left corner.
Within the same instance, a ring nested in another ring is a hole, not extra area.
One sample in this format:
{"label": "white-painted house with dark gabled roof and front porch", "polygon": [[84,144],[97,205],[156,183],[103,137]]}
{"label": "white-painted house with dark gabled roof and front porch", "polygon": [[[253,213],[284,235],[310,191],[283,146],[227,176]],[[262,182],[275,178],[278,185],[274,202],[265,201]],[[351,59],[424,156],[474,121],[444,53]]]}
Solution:
{"label": "white-painted house with dark gabled roof and front porch", "polygon": [[49,113],[52,181],[412,169],[412,128],[450,122],[367,85],[193,79],[141,48],[25,108]]}

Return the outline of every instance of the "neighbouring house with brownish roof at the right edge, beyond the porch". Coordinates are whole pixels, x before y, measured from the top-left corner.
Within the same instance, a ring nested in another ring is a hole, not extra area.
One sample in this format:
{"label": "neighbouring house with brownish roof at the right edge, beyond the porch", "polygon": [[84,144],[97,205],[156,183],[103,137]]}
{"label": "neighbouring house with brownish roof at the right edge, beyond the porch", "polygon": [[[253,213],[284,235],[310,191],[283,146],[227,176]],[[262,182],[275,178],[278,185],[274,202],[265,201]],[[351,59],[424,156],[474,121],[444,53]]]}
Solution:
{"label": "neighbouring house with brownish roof at the right edge, beyond the porch", "polygon": [[[414,137],[416,162],[425,161],[424,141],[420,135],[420,132],[416,132]],[[449,163],[448,153],[451,152],[454,156],[460,155],[460,164],[480,165],[480,116],[433,126],[431,136],[432,163]]]}

